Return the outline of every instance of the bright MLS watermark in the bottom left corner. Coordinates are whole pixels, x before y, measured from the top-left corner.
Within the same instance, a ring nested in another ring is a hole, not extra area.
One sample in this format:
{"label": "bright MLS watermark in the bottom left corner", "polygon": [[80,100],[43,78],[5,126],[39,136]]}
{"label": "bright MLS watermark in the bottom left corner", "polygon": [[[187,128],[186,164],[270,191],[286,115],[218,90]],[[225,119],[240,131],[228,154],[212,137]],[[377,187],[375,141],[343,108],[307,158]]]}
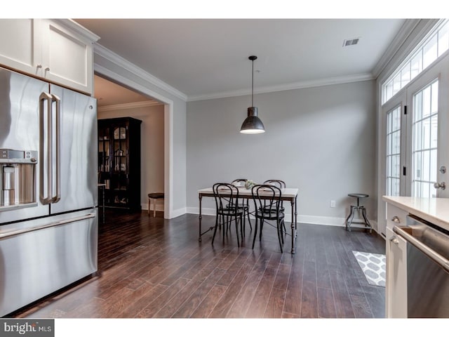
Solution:
{"label": "bright MLS watermark in the bottom left corner", "polygon": [[54,319],[0,319],[0,337],[55,337]]}

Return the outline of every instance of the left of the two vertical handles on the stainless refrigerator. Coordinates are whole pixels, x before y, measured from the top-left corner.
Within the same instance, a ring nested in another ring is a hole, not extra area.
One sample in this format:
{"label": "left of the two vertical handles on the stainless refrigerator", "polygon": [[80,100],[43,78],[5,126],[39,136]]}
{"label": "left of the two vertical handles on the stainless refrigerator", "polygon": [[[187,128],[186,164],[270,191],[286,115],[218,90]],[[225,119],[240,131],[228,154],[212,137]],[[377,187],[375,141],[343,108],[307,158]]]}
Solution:
{"label": "left of the two vertical handles on the stainless refrigerator", "polygon": [[[47,110],[45,114],[44,102],[47,103]],[[40,168],[40,199],[44,205],[51,203],[52,194],[52,180],[53,176],[53,155],[52,155],[52,126],[51,126],[51,110],[52,110],[52,98],[49,93],[41,93],[39,96],[39,133],[40,133],[40,145],[39,145],[39,161],[41,163]],[[46,124],[46,126],[45,126]],[[45,148],[45,143],[47,148]],[[47,159],[47,160],[45,160]],[[46,182],[46,191],[44,185]]]}

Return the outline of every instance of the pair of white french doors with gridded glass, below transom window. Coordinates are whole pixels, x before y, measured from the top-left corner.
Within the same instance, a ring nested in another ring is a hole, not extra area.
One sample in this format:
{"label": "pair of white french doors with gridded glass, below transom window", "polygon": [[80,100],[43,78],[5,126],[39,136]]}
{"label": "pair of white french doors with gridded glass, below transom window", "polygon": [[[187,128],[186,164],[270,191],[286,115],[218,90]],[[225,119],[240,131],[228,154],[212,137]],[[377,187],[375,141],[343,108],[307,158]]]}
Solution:
{"label": "pair of white french doors with gridded glass, below transom window", "polygon": [[449,197],[449,56],[382,107],[385,194]]}

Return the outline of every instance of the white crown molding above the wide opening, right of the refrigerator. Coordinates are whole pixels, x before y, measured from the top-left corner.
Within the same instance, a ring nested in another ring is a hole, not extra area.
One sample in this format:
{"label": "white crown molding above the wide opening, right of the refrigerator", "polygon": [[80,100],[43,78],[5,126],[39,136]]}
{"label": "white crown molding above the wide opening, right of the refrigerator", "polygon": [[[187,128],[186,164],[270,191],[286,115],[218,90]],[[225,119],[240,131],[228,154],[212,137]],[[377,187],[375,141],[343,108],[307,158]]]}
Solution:
{"label": "white crown molding above the wide opening, right of the refrigerator", "polygon": [[122,58],[120,55],[117,55],[113,51],[110,51],[108,48],[102,46],[101,44],[94,44],[93,51],[95,54],[101,56],[102,58],[105,58],[116,65],[119,65],[120,67],[123,67],[123,69],[128,70],[128,72],[131,72],[137,77],[140,77],[141,79],[154,84],[154,86],[162,89],[163,91],[166,91],[177,98],[180,98],[181,100],[187,101],[187,95],[185,93],[182,93],[181,91],[177,90],[176,88],[173,88],[173,86],[170,86],[166,84],[164,81],[161,81],[157,77],[154,77],[152,74],[149,74],[149,72],[145,72],[145,70],[142,70],[142,68],[133,65],[133,63],[129,62],[125,58]]}

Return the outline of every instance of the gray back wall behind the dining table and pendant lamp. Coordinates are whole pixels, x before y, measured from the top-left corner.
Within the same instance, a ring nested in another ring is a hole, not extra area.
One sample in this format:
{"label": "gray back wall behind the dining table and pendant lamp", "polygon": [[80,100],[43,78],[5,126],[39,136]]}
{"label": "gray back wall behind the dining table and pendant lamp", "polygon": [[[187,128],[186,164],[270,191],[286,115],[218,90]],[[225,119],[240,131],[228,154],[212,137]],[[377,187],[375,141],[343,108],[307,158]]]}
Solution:
{"label": "gray back wall behind the dining table and pendant lamp", "polygon": [[[375,103],[375,81],[258,94],[259,135],[239,133],[249,96],[187,103],[187,211],[198,212],[197,190],[215,182],[280,178],[300,189],[300,221],[342,225],[350,192],[370,194],[375,219]],[[203,200],[203,212],[214,208]]]}

